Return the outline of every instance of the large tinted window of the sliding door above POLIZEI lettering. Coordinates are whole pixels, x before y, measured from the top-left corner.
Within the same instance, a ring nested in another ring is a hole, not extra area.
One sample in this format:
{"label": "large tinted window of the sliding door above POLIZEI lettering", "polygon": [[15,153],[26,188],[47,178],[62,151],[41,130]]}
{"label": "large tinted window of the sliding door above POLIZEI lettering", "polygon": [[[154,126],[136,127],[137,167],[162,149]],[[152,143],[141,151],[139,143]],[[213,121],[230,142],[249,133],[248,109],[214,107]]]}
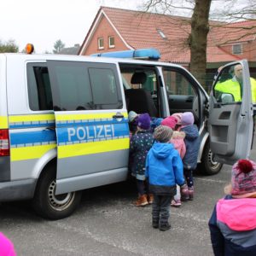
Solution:
{"label": "large tinted window of the sliding door above POLIZEI lettering", "polygon": [[55,111],[122,108],[114,65],[48,61]]}

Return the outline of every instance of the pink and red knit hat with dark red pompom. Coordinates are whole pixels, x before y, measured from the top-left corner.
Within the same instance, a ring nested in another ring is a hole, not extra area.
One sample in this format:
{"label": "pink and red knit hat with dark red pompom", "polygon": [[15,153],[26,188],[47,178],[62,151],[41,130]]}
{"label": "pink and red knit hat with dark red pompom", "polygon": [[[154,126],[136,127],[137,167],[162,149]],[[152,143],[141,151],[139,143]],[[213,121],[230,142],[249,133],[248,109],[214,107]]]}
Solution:
{"label": "pink and red knit hat with dark red pompom", "polygon": [[253,160],[238,160],[232,167],[231,184],[231,195],[256,193],[256,163]]}

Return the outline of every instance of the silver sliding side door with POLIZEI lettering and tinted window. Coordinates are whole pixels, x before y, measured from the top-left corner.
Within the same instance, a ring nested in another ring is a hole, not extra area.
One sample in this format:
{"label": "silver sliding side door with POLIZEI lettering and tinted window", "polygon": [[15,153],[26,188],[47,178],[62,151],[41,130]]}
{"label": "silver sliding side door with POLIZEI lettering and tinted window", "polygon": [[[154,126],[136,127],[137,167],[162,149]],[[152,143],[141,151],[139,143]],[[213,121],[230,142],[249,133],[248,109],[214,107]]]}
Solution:
{"label": "silver sliding side door with POLIZEI lettering and tinted window", "polygon": [[57,137],[55,194],[124,181],[130,140],[116,65],[47,62]]}

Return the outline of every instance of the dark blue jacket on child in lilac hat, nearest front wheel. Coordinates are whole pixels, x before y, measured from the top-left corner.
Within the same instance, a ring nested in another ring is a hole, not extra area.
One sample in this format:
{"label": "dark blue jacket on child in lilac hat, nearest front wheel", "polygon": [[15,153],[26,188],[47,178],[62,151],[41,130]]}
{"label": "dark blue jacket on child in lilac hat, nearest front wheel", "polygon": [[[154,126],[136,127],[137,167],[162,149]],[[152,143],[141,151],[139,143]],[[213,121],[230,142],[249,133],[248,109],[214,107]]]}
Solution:
{"label": "dark blue jacket on child in lilac hat, nearest front wheel", "polygon": [[183,157],[184,169],[195,170],[197,166],[197,155],[200,146],[200,137],[196,125],[186,125],[181,128],[186,137],[184,143],[186,145],[186,154]]}

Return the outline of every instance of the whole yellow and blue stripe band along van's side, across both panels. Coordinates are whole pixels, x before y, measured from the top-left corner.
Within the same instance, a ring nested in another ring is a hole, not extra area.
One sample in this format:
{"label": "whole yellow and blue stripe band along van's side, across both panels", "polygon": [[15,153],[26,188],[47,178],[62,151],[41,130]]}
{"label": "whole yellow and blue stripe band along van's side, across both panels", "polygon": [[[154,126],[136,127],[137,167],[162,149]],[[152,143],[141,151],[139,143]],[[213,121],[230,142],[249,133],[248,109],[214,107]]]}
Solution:
{"label": "whole yellow and blue stripe band along van's side, across both panels", "polygon": [[[123,119],[113,119],[113,115],[114,113],[57,113],[10,116],[10,130],[19,129],[17,132],[10,132],[11,160],[37,159],[55,148],[55,125],[58,158],[127,149],[127,113],[123,113]],[[29,128],[40,127],[43,130],[29,131]]]}

